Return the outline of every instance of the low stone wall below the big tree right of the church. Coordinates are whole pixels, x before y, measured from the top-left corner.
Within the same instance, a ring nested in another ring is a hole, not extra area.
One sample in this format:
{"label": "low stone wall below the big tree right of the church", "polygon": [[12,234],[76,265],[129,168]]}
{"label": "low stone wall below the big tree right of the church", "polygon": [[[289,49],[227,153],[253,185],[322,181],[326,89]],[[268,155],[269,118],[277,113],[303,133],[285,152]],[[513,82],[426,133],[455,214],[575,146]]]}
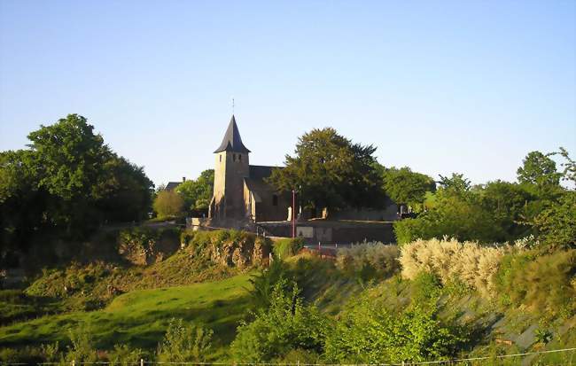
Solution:
{"label": "low stone wall below the big tree right of the church", "polygon": [[[292,237],[292,222],[258,222],[269,235]],[[307,244],[350,244],[364,240],[395,243],[392,222],[309,221],[297,222],[296,236]]]}

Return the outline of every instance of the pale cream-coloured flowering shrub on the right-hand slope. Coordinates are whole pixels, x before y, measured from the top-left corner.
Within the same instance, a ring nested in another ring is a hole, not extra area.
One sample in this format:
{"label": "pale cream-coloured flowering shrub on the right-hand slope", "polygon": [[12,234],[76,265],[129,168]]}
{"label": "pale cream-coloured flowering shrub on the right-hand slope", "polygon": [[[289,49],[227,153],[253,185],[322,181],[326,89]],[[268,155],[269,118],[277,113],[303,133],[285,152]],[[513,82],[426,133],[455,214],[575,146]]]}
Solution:
{"label": "pale cream-coloured flowering shrub on the right-hand slope", "polygon": [[493,290],[492,276],[504,255],[502,247],[482,246],[476,242],[460,243],[455,239],[416,240],[401,247],[402,276],[414,279],[430,272],[442,284],[458,279],[488,296]]}

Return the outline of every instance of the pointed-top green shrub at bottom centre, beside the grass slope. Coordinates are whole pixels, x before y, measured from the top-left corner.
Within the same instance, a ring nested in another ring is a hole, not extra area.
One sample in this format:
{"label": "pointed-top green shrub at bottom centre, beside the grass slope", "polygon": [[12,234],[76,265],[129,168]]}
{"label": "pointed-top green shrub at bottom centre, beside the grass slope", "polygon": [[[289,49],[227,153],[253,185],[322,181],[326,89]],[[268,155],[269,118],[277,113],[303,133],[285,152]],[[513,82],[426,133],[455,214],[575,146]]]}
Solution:
{"label": "pointed-top green shrub at bottom centre, beside the grass slope", "polygon": [[327,321],[314,306],[304,305],[300,289],[287,281],[276,284],[269,308],[254,314],[252,323],[241,323],[230,353],[238,362],[269,362],[293,349],[321,352]]}

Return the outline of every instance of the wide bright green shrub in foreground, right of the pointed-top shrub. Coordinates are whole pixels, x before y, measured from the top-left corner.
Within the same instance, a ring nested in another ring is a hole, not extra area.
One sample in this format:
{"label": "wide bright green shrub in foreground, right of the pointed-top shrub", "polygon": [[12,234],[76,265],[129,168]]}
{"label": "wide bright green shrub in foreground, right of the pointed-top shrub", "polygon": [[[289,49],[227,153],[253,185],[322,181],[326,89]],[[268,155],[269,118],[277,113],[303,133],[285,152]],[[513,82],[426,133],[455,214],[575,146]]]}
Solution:
{"label": "wide bright green shrub in foreground, right of the pointed-top shrub", "polygon": [[[376,311],[378,309],[378,311]],[[410,306],[399,314],[364,295],[348,308],[326,339],[330,362],[422,362],[446,359],[466,338],[440,322],[434,306]]]}

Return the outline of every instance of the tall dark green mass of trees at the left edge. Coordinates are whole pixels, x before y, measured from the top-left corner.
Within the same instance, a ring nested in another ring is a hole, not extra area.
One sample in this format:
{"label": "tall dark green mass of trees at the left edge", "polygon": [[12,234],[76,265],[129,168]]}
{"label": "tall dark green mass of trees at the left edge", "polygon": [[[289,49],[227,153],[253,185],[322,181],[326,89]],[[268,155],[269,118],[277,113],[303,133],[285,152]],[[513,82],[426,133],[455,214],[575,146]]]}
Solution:
{"label": "tall dark green mass of trees at the left edge", "polygon": [[0,259],[46,236],[85,238],[103,222],[137,221],[152,182],[116,155],[77,114],[28,135],[29,149],[0,152]]}

